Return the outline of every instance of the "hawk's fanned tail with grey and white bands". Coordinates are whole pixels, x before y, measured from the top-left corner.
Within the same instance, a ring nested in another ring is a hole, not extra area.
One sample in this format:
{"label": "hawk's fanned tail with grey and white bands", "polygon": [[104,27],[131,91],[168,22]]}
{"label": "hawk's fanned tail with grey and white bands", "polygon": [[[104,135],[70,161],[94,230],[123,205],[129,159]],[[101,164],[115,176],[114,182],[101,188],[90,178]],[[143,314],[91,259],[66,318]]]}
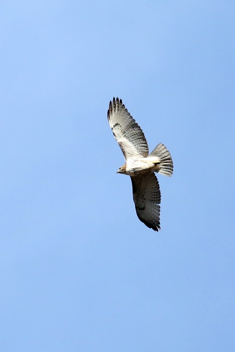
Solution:
{"label": "hawk's fanned tail with grey and white bands", "polygon": [[164,144],[159,143],[156,148],[149,154],[149,157],[159,158],[161,162],[158,165],[160,168],[158,173],[171,177],[173,173],[173,162],[171,154],[168,152]]}

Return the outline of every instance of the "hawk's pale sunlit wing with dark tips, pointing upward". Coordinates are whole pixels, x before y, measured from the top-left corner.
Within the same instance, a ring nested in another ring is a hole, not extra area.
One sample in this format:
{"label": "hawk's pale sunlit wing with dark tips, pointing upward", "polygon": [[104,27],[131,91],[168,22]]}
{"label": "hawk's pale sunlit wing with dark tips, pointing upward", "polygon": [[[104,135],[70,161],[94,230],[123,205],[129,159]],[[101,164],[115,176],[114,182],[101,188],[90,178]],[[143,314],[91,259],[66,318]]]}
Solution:
{"label": "hawk's pale sunlit wing with dark tips, pointing upward", "polygon": [[137,155],[148,156],[148,143],[144,133],[129,114],[121,99],[113,98],[113,102],[110,101],[108,120],[125,159]]}

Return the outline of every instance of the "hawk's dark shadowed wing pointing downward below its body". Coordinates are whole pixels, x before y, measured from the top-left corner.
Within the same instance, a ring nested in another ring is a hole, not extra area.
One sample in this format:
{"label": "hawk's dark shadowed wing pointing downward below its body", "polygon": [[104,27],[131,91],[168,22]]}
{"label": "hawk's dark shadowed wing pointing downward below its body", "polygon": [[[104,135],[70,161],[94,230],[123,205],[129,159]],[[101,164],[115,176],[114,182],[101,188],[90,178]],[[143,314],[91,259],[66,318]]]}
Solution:
{"label": "hawk's dark shadowed wing pointing downward below its body", "polygon": [[138,218],[154,231],[160,227],[161,193],[154,172],[131,176],[133,200]]}

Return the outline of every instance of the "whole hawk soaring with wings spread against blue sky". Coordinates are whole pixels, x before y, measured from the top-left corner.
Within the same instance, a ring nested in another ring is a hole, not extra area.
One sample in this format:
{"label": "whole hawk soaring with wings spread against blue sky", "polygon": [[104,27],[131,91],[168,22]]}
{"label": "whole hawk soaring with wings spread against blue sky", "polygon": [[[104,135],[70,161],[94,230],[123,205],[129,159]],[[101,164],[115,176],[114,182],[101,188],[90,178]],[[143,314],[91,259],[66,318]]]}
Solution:
{"label": "whole hawk soaring with wings spread against blue sky", "polygon": [[171,154],[161,143],[149,154],[143,131],[121,99],[113,98],[110,101],[108,121],[125,157],[125,164],[117,173],[131,177],[133,200],[140,221],[154,231],[159,231],[161,193],[154,172],[171,177]]}

